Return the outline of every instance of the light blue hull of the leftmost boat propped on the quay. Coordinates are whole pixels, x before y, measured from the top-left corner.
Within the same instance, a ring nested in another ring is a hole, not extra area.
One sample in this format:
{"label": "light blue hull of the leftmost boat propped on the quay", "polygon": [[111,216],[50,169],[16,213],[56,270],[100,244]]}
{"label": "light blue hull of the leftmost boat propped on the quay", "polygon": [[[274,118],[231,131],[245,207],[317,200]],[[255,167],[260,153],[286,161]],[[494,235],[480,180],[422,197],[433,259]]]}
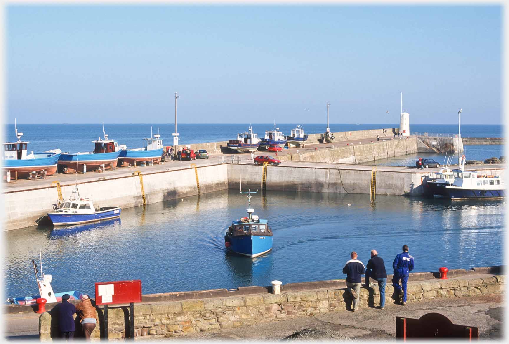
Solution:
{"label": "light blue hull of the leftmost boat propped on the quay", "polygon": [[11,171],[11,178],[15,178],[16,172],[18,178],[28,177],[32,172],[40,172],[46,170],[48,176],[56,172],[57,161],[60,153],[36,153],[35,159],[11,160],[3,161],[2,169]]}

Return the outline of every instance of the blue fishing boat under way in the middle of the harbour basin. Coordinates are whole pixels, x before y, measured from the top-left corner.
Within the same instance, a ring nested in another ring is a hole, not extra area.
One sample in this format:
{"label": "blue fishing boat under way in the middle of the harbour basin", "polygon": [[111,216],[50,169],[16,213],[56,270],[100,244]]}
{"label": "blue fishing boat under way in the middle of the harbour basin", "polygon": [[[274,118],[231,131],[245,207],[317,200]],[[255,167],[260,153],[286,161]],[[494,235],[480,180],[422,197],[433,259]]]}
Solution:
{"label": "blue fishing boat under way in the middle of the harbour basin", "polygon": [[248,194],[249,208],[246,211],[249,216],[232,222],[224,236],[224,245],[235,253],[254,258],[272,249],[273,234],[267,220],[252,215],[251,191],[241,193]]}

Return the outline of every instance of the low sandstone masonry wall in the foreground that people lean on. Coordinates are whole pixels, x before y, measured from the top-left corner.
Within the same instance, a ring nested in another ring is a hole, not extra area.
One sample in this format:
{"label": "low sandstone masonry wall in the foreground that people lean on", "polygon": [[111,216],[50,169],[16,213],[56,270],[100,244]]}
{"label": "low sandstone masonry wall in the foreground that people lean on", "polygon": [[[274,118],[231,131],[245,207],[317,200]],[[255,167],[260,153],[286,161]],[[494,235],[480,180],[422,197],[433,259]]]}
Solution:
{"label": "low sandstone masonry wall in the foreground that people lean on", "polygon": [[[412,275],[412,274],[411,274]],[[433,298],[501,294],[504,292],[504,275],[477,275],[445,280],[410,281],[408,302]],[[390,280],[388,278],[390,283]],[[328,281],[332,282],[332,281]],[[335,281],[334,281],[335,282]],[[386,287],[386,307],[395,303],[392,285]],[[360,307],[378,306],[378,286],[361,288]],[[324,288],[273,294],[216,297],[182,301],[135,304],[135,336],[175,337],[190,332],[219,331],[221,329],[251,326],[295,317],[316,316],[350,309],[352,298],[346,288]],[[126,322],[129,307],[108,307],[109,339],[123,340],[129,329]],[[49,313],[40,317],[41,340],[49,339]],[[99,309],[99,319],[102,309]],[[101,321],[101,326],[102,326]],[[95,330],[99,333],[98,329]]]}

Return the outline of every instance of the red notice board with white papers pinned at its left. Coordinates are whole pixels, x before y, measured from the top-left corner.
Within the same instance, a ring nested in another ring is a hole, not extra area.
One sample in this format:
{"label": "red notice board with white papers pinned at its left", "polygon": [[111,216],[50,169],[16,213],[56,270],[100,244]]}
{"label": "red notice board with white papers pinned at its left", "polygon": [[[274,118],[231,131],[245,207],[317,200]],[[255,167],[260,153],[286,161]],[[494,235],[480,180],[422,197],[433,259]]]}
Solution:
{"label": "red notice board with white papers pinned at its left", "polygon": [[142,302],[142,281],[96,282],[96,305]]}

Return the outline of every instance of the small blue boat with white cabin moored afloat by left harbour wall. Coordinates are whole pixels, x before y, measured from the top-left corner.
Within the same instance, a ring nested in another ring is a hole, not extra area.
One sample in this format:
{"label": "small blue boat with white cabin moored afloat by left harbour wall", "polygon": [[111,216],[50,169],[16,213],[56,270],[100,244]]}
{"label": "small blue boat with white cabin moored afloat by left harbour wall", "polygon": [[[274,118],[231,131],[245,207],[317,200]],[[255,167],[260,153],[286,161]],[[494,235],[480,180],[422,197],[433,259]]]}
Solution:
{"label": "small blue boat with white cabin moored afloat by left harbour wall", "polygon": [[54,226],[108,220],[120,217],[121,207],[94,207],[92,200],[79,196],[77,189],[68,201],[47,213]]}

